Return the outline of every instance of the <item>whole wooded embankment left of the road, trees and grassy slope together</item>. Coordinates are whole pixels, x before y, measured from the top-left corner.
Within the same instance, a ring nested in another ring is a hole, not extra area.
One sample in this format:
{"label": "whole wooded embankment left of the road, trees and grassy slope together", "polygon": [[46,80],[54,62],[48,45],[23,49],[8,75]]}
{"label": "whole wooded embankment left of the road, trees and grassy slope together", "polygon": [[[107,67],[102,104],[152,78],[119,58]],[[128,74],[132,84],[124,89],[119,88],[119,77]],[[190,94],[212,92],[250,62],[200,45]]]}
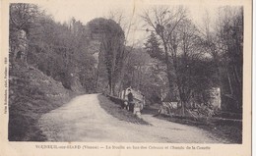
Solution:
{"label": "whole wooded embankment left of the road, trees and grassy slope together", "polygon": [[[29,3],[11,4],[9,23],[9,140],[43,140],[37,120],[67,102],[66,88],[95,91],[90,35],[79,21],[56,23]],[[12,59],[18,50],[26,52],[25,62]]]}

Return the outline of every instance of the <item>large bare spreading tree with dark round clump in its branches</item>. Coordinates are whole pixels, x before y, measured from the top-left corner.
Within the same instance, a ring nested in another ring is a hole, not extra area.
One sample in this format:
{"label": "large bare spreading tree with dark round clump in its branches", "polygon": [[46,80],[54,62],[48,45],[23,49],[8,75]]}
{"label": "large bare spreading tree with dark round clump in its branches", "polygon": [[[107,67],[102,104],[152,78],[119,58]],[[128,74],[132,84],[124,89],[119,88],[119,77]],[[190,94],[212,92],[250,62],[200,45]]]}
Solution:
{"label": "large bare spreading tree with dark round clump in its branches", "polygon": [[[180,101],[182,115],[185,115],[194,95],[203,96],[215,85],[214,68],[201,46],[200,32],[186,17],[184,8],[155,8],[152,12],[154,14],[150,16],[150,12],[146,11],[142,18],[153,28],[151,31],[158,34],[160,46],[163,47],[163,55],[158,52],[152,56],[163,60],[169,84],[168,96],[172,100]],[[156,44],[157,37],[151,35],[150,38],[154,39],[148,40],[147,43],[150,41]],[[204,67],[208,69],[205,70]],[[207,104],[206,101],[204,103]]]}

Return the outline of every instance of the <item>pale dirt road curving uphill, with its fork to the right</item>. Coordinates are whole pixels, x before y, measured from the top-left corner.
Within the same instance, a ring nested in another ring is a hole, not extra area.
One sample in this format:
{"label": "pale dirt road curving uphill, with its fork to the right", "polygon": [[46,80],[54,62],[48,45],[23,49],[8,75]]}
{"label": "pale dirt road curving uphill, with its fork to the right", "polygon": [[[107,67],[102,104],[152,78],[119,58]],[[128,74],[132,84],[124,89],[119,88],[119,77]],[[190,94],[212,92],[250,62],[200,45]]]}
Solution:
{"label": "pale dirt road curving uphill, with its fork to the right", "polygon": [[205,130],[143,115],[152,126],[131,124],[107,114],[97,94],[82,95],[44,114],[39,127],[49,141],[224,143]]}

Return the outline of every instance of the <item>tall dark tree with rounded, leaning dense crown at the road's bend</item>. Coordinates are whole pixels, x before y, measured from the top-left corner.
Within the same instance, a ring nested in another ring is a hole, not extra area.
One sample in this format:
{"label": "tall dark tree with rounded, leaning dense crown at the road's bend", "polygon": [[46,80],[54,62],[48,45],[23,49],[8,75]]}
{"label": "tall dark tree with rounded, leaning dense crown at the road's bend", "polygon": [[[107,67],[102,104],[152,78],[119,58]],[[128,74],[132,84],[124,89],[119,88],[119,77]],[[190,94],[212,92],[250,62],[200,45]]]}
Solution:
{"label": "tall dark tree with rounded, leaning dense crown at the road's bend", "polygon": [[100,54],[107,74],[110,94],[115,93],[124,60],[124,32],[113,20],[95,19],[88,26],[100,40]]}

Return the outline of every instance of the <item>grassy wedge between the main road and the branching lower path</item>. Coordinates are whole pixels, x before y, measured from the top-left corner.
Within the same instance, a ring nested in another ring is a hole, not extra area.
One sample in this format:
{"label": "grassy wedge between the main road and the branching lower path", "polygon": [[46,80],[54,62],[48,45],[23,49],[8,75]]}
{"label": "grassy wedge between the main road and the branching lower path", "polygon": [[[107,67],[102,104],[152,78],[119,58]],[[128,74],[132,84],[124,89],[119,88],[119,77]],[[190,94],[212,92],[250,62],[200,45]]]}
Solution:
{"label": "grassy wedge between the main road and the branching lower path", "polygon": [[99,100],[100,107],[118,120],[138,125],[150,125],[148,122],[138,118],[133,113],[122,109],[120,105],[113,103],[107,97],[103,95],[98,95],[97,98]]}

